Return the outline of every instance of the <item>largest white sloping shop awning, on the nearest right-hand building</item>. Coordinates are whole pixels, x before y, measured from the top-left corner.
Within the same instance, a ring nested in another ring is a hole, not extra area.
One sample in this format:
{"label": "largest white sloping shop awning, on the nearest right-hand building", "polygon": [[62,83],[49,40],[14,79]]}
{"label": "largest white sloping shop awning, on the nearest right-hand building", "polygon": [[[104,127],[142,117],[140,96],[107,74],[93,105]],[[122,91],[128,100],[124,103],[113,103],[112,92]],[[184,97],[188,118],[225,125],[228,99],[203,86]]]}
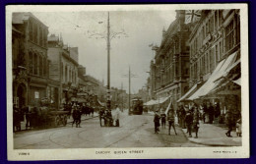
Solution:
{"label": "largest white sloping shop awning, on the nearest right-hand building", "polygon": [[211,90],[213,90],[216,86],[216,81],[224,76],[226,74],[227,69],[234,63],[234,60],[237,56],[237,51],[233,54],[229,55],[226,59],[224,59],[222,62],[218,64],[215,71],[211,75],[211,77],[208,79],[207,82],[205,82],[194,94],[192,94],[188,99],[194,100],[198,99],[201,96],[204,96],[208,94]]}

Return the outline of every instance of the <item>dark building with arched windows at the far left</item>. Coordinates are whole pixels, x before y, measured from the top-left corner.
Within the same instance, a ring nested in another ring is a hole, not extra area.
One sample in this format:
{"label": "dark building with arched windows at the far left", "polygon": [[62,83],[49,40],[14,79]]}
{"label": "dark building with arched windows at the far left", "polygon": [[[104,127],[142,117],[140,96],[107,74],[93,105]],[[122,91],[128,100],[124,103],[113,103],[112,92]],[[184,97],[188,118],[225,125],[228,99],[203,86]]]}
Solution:
{"label": "dark building with arched windows at the far left", "polygon": [[13,13],[12,26],[14,104],[38,105],[47,97],[48,27],[32,13]]}

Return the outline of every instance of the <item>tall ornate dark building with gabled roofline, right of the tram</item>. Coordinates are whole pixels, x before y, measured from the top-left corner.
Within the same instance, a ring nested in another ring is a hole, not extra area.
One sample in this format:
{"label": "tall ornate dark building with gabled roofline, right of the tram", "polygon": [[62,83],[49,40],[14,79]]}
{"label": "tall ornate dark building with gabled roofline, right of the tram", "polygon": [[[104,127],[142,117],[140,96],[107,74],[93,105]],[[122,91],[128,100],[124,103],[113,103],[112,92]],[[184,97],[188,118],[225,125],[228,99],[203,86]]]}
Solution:
{"label": "tall ornate dark building with gabled roofline, right of the tram", "polygon": [[162,30],[160,47],[155,47],[151,63],[151,89],[155,99],[171,97],[174,108],[189,88],[189,44],[191,26],[184,24],[185,11],[176,11],[176,19]]}

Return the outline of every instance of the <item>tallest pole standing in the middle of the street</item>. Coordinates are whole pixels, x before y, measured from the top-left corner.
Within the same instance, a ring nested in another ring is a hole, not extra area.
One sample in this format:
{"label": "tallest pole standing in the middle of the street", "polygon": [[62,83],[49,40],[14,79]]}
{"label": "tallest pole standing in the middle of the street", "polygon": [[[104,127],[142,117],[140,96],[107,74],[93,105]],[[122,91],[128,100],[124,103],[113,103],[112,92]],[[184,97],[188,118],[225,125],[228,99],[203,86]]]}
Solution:
{"label": "tallest pole standing in the middle of the street", "polygon": [[110,109],[110,25],[107,13],[107,109]]}

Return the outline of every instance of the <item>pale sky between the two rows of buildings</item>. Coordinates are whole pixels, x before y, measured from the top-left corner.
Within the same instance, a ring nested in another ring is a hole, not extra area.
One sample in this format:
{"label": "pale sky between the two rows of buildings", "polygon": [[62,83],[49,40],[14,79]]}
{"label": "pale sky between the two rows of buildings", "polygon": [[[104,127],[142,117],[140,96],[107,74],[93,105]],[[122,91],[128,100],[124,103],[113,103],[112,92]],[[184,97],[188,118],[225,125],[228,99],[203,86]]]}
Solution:
{"label": "pale sky between the two rows of buildings", "polygon": [[[88,31],[106,33],[107,12],[57,12],[35,13],[42,23],[49,27],[49,34],[62,33],[65,44],[79,47],[79,64],[87,69],[87,74],[97,80],[107,82],[106,41],[102,38],[89,38]],[[147,82],[153,51],[151,43],[160,45],[162,28],[175,19],[175,11],[112,11],[110,31],[122,29],[129,37],[113,38],[110,50],[110,85],[128,90],[129,66],[132,74],[132,93],[136,93]],[[98,22],[103,22],[98,24]],[[79,27],[77,27],[79,26]]]}

